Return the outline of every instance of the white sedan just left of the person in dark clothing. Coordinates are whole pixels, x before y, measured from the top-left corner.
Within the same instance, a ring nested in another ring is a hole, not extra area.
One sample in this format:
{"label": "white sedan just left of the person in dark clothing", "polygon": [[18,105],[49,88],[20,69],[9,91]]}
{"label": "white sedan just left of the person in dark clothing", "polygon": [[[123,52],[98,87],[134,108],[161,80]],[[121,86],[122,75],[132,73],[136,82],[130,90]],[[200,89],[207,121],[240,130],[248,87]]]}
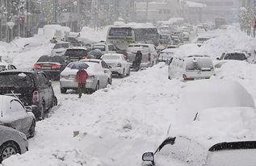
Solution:
{"label": "white sedan just left of the person in dark clothing", "polygon": [[123,54],[105,54],[101,58],[110,66],[112,74],[120,77],[130,75],[130,64],[124,59]]}

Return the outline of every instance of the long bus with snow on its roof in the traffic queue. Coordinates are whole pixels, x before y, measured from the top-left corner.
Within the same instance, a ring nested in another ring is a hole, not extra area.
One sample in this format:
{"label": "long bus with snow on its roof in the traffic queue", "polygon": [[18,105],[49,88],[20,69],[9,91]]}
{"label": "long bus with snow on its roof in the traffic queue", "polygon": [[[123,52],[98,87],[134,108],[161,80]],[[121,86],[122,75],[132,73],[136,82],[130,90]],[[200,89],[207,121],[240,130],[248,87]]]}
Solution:
{"label": "long bus with snow on its roof in the traffic queue", "polygon": [[119,50],[126,50],[129,44],[159,44],[157,27],[147,23],[112,26],[107,31],[107,43]]}

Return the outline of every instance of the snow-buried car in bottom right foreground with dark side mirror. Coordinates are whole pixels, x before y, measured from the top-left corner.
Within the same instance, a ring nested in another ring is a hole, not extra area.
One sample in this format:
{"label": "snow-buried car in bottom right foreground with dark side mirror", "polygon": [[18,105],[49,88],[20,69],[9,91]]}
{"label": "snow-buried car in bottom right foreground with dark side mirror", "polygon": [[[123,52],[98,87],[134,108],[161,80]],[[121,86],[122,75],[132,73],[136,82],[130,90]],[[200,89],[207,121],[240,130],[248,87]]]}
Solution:
{"label": "snow-buried car in bottom right foreground with dark side mirror", "polygon": [[143,155],[145,164],[166,166],[170,159],[192,166],[256,164],[256,110],[242,85],[225,80],[191,82],[179,105],[178,122],[155,153]]}

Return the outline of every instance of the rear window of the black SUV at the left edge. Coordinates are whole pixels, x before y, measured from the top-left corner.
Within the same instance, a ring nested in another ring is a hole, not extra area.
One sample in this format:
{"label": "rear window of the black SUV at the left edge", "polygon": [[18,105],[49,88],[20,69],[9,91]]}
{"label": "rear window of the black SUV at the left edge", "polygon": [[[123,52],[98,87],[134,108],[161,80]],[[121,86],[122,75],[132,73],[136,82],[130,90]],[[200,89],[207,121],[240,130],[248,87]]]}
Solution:
{"label": "rear window of the black SUV at the left edge", "polygon": [[31,74],[2,73],[0,74],[0,87],[31,87]]}

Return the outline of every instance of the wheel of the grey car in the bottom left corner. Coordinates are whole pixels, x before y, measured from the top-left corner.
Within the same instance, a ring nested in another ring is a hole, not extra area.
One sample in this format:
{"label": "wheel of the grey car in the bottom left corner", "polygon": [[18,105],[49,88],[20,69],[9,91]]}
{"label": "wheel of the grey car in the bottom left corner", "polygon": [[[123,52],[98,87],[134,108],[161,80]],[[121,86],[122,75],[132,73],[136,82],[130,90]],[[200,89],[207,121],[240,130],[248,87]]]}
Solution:
{"label": "wheel of the grey car in the bottom left corner", "polygon": [[0,147],[0,163],[2,163],[2,160],[6,160],[8,157],[16,155],[17,153],[19,153],[19,148],[14,142],[4,143]]}

